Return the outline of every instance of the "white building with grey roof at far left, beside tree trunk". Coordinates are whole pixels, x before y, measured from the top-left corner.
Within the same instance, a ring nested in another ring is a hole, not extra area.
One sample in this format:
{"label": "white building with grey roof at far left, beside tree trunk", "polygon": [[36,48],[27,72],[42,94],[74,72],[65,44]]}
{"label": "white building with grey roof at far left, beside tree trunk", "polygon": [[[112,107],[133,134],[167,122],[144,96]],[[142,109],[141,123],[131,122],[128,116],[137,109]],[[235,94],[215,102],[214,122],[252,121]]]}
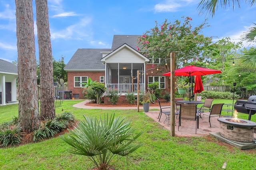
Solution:
{"label": "white building with grey roof at far left, beside tree trunk", "polygon": [[18,66],[0,59],[0,106],[16,102]]}

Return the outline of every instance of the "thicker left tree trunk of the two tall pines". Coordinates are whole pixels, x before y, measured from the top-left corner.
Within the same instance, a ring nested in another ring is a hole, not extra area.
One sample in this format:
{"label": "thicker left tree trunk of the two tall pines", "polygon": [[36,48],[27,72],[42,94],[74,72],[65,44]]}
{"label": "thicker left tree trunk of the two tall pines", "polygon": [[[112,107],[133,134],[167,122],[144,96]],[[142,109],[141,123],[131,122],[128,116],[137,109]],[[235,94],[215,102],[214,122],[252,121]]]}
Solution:
{"label": "thicker left tree trunk of the two tall pines", "polygon": [[32,0],[15,0],[18,48],[18,120],[23,131],[39,128],[38,87]]}

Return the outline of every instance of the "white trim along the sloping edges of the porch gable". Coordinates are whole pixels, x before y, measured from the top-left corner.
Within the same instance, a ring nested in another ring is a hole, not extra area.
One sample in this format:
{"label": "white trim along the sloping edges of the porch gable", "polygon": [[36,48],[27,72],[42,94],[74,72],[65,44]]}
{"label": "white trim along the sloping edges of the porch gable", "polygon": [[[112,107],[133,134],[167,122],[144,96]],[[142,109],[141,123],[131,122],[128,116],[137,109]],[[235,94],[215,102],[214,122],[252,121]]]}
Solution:
{"label": "white trim along the sloping edges of the porch gable", "polygon": [[[130,47],[129,45],[127,45],[126,43],[124,43],[122,46],[118,47],[116,50],[114,50],[112,53],[106,55],[105,57],[103,57],[101,59],[102,63],[105,63],[106,60],[108,60],[110,57],[114,56],[116,53],[122,51],[123,49],[128,49],[129,51],[131,51],[132,53],[136,54],[137,57],[140,58],[140,60],[143,60],[145,63],[149,62],[149,59],[147,57],[145,57],[144,55],[142,55],[141,53],[139,53],[138,51],[136,51],[135,49],[133,49],[132,47]],[[117,61],[118,62],[118,61]],[[120,61],[118,62],[120,63]]]}

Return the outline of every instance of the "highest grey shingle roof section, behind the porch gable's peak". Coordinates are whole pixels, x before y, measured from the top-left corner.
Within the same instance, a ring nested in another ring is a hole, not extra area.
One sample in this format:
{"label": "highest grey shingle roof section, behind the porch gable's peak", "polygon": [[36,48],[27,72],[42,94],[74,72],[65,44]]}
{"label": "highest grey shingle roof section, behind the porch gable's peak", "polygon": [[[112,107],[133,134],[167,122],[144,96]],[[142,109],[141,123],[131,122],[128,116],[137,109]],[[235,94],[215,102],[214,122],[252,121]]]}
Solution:
{"label": "highest grey shingle roof section, behind the porch gable's peak", "polygon": [[137,50],[138,42],[137,39],[141,35],[114,35],[113,41],[112,41],[112,51],[126,43],[133,49]]}

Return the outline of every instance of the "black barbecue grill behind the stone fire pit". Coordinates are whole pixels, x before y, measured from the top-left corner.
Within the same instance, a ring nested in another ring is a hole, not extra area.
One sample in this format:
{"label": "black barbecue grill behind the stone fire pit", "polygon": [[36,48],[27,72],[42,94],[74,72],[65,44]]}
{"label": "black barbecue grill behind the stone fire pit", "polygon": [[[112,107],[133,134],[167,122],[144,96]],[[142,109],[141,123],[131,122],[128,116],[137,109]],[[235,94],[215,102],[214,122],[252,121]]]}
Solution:
{"label": "black barbecue grill behind the stone fire pit", "polygon": [[256,113],[256,96],[250,96],[247,101],[236,100],[234,109],[239,113],[248,114],[248,120],[251,120],[251,116]]}

